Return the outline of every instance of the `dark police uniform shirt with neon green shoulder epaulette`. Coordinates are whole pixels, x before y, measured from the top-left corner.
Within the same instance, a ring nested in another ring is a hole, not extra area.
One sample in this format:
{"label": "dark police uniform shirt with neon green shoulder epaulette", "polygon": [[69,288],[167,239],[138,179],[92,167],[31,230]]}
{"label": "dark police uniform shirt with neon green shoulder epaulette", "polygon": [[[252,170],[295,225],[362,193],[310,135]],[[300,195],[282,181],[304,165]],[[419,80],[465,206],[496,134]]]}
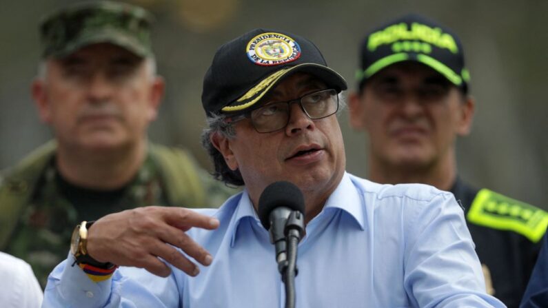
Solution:
{"label": "dark police uniform shirt with neon green shoulder epaulette", "polygon": [[539,227],[546,212],[488,189],[476,189],[460,178],[450,191],[465,209],[487,291],[508,307],[518,307],[540,251],[538,240],[546,227],[542,232]]}

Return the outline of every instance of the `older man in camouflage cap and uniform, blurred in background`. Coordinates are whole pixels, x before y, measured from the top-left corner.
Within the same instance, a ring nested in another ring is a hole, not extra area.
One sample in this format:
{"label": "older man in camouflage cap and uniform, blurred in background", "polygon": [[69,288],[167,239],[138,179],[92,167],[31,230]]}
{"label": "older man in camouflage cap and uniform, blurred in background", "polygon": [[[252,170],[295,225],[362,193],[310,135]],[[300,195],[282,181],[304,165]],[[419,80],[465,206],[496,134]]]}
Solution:
{"label": "older man in camouflage cap and uniform, blurred in background", "polygon": [[207,207],[233,194],[183,150],[149,143],[164,82],[155,73],[150,13],[80,3],[41,24],[32,85],[50,141],[0,177],[0,250],[45,285],[74,225],[145,205]]}

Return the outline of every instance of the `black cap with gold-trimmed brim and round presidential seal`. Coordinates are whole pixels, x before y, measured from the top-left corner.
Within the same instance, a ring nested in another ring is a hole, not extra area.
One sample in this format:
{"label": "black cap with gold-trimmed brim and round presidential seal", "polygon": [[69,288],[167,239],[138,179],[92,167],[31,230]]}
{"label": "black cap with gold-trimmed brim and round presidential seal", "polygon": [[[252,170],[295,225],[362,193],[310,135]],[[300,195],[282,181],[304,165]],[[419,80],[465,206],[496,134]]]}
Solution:
{"label": "black cap with gold-trimmed brim and round presidential seal", "polygon": [[327,67],[311,41],[278,30],[254,29],[217,50],[203,79],[205,113],[239,114],[295,72],[316,76],[337,92],[346,81]]}

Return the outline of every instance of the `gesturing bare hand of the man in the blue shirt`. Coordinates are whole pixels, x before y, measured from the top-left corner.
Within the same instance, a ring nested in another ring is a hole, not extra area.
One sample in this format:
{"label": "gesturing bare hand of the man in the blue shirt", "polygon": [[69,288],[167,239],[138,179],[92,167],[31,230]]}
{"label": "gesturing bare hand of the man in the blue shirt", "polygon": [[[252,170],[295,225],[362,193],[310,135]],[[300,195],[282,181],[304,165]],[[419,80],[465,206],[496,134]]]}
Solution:
{"label": "gesturing bare hand of the man in the blue shirt", "polygon": [[196,276],[196,264],[174,248],[181,248],[202,265],[212,263],[212,256],[185,233],[191,227],[216,229],[219,220],[182,207],[128,209],[104,216],[90,227],[88,254],[99,262],[141,267],[158,276],[169,276],[170,267],[160,257]]}

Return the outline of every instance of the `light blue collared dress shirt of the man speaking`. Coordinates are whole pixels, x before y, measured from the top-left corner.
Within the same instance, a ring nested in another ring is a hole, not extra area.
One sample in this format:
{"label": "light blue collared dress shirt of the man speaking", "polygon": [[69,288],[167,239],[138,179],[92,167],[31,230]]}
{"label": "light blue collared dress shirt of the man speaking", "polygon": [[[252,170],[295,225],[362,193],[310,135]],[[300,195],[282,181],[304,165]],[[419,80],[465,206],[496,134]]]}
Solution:
{"label": "light blue collared dress shirt of the man speaking", "polygon": [[[121,267],[93,283],[74,258],[48,280],[43,307],[284,307],[274,246],[244,190],[215,231],[190,229],[214,257],[190,277]],[[505,307],[485,294],[463,209],[427,185],[378,185],[345,174],[298,245],[296,307]]]}

